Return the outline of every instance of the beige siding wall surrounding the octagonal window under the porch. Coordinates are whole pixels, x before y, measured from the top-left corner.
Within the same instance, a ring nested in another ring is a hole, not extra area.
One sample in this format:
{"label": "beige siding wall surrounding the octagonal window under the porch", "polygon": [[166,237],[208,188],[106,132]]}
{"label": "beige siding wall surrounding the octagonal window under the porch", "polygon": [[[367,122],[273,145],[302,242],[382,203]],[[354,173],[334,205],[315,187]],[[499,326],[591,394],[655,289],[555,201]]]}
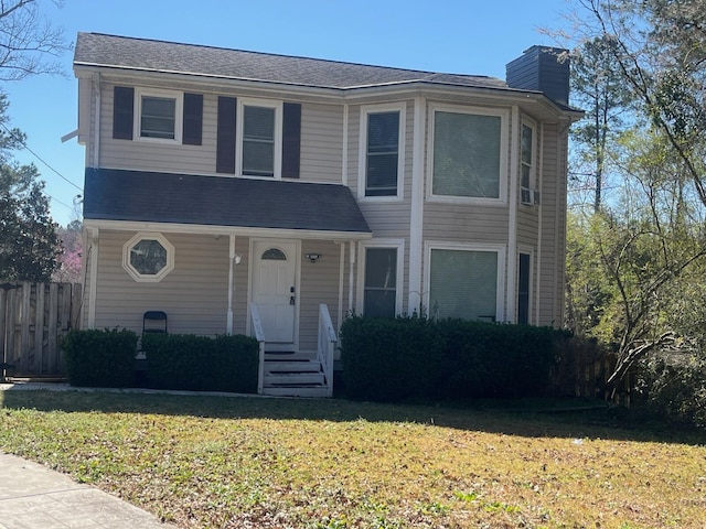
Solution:
{"label": "beige siding wall surrounding the octagonal window under the porch", "polygon": [[[161,282],[152,283],[133,281],[122,268],[122,245],[133,235],[127,231],[100,233],[96,328],[117,325],[141,332],[146,311],[164,311],[170,333],[224,334],[228,238],[163,234],[174,246],[174,270]],[[239,246],[247,248],[246,244]],[[243,285],[236,299],[236,332],[245,331],[247,274],[246,268],[242,269],[238,267],[236,278],[236,282]]]}

